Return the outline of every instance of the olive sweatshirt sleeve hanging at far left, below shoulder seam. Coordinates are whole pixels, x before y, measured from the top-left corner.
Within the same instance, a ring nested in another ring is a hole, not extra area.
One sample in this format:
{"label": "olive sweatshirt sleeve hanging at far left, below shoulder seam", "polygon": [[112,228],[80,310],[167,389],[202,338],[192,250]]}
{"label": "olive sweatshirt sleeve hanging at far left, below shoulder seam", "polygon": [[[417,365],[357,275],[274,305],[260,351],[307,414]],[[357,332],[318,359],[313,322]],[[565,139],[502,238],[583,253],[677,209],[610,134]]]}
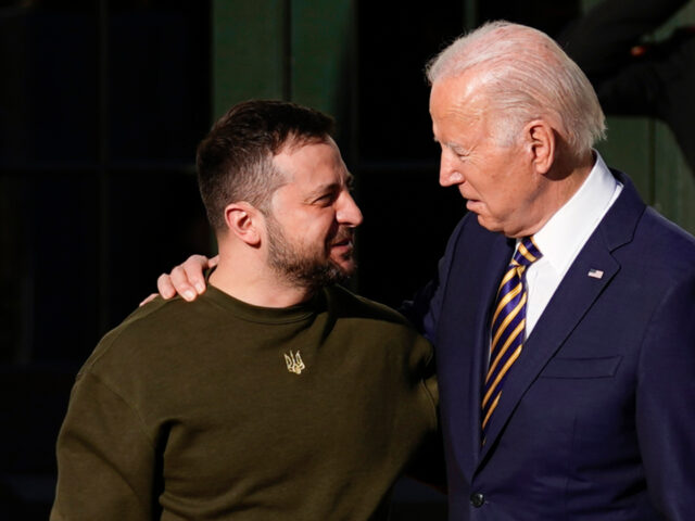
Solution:
{"label": "olive sweatshirt sleeve hanging at far left, below shoulder seam", "polygon": [[153,444],[137,412],[89,372],[73,387],[56,450],[51,521],[155,518]]}

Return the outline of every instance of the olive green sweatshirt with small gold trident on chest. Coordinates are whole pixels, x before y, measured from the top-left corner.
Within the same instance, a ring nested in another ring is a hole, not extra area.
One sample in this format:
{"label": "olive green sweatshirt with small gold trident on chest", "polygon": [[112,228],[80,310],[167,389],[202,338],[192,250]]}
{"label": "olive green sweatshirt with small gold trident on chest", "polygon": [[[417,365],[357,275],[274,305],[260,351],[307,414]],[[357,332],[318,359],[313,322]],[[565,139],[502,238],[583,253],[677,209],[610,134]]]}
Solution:
{"label": "olive green sweatshirt with small gold trident on chest", "polygon": [[432,366],[403,317],[339,287],[281,309],[155,300],[77,376],[51,520],[386,519],[437,429]]}

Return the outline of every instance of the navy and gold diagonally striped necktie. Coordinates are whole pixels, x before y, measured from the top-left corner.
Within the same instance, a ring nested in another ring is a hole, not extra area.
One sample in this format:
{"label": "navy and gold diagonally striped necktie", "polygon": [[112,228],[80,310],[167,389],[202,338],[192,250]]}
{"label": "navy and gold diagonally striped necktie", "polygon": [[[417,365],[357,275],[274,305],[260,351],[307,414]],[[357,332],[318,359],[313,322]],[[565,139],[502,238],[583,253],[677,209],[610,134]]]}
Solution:
{"label": "navy and gold diagonally striped necktie", "polygon": [[531,237],[523,238],[500,283],[495,313],[491,321],[490,368],[482,398],[483,445],[490,418],[502,395],[502,385],[509,368],[521,354],[521,346],[526,340],[527,290],[525,271],[542,256],[543,254],[533,243],[533,239]]}

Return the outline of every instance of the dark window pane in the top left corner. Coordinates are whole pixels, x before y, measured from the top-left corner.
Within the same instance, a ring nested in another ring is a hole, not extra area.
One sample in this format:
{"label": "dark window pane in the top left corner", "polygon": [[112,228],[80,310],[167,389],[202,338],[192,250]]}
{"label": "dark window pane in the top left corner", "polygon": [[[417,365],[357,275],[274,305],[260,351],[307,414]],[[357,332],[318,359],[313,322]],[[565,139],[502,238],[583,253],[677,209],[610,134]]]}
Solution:
{"label": "dark window pane in the top left corner", "polygon": [[96,16],[63,3],[0,9],[0,166],[97,157]]}

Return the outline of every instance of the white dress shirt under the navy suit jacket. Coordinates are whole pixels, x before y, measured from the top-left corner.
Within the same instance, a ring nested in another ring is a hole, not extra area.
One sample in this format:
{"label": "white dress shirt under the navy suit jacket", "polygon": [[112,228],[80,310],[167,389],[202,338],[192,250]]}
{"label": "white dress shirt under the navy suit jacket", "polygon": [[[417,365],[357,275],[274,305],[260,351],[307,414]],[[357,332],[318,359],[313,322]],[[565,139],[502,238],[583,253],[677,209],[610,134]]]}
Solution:
{"label": "white dress shirt under the navy suit jacket", "polygon": [[622,183],[616,180],[598,152],[594,151],[594,154],[596,163],[586,180],[533,236],[543,257],[526,272],[527,338],[574,258],[622,191]]}

